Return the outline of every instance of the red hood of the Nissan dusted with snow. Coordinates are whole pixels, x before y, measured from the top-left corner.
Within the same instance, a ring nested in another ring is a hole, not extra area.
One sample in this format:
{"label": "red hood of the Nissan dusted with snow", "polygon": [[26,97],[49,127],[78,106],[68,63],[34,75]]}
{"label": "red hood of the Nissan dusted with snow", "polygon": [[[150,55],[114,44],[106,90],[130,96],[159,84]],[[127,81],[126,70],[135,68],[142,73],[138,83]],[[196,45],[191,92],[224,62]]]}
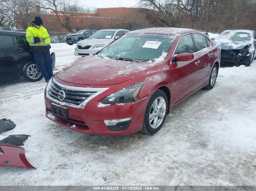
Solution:
{"label": "red hood of the Nissan dusted with snow", "polygon": [[75,84],[112,85],[155,71],[157,62],[127,62],[87,56],[79,59],[56,76]]}

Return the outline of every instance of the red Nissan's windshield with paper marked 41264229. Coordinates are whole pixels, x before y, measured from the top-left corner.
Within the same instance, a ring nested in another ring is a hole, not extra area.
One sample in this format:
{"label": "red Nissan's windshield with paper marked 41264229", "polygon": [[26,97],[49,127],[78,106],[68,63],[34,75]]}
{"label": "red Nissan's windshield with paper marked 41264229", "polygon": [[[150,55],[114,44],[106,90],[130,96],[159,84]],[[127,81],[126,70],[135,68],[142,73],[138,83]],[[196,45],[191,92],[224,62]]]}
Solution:
{"label": "red Nissan's windshield with paper marked 41264229", "polygon": [[174,35],[125,34],[98,54],[98,57],[133,62],[160,62],[167,56]]}

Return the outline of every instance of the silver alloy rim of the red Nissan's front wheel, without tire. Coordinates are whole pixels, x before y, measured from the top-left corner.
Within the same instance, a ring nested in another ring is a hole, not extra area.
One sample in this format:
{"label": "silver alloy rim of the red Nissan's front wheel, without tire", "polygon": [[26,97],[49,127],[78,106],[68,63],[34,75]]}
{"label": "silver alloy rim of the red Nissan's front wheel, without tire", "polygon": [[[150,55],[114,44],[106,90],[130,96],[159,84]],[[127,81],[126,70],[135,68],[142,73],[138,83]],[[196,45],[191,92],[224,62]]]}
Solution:
{"label": "silver alloy rim of the red Nissan's front wheel, without tire", "polygon": [[165,118],[166,103],[163,97],[158,97],[153,102],[150,113],[149,123],[153,129],[158,128]]}

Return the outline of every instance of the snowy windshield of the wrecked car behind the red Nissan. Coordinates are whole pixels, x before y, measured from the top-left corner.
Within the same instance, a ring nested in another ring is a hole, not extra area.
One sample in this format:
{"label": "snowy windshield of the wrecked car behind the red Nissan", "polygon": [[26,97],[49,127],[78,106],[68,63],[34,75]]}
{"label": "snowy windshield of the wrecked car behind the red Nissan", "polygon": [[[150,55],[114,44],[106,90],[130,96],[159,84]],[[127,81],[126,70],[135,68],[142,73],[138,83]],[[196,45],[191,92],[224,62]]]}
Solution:
{"label": "snowy windshield of the wrecked car behind the red Nissan", "polygon": [[216,40],[230,40],[230,41],[250,41],[251,34],[241,31],[224,31],[221,33]]}

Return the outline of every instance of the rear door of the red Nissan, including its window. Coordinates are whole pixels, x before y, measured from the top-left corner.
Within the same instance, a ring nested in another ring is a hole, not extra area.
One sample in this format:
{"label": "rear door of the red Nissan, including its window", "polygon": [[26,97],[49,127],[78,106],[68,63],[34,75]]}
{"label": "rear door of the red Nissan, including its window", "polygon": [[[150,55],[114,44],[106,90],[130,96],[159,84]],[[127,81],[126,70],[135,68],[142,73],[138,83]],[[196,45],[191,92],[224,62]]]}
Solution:
{"label": "rear door of the red Nissan, including its window", "polygon": [[200,56],[200,75],[198,87],[205,84],[211,73],[211,66],[217,58],[217,47],[202,34],[192,33],[198,55]]}

